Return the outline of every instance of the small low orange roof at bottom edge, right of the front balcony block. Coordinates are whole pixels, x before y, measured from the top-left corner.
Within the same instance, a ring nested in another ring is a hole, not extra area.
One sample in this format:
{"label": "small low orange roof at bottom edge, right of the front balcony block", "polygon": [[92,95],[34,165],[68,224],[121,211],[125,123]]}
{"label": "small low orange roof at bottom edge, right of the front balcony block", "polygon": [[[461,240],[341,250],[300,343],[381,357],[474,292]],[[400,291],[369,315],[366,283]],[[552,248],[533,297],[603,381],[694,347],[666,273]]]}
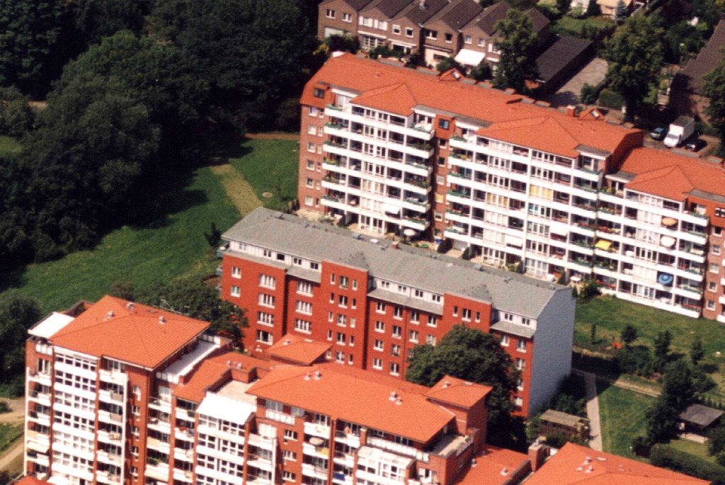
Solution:
{"label": "small low orange roof at bottom edge, right of the front balcony block", "polygon": [[[529,463],[529,456],[513,449],[486,446],[484,453],[476,457],[476,465],[456,482],[459,485],[503,485],[511,476]],[[526,472],[524,472],[526,473]],[[556,483],[556,482],[554,482]]]}

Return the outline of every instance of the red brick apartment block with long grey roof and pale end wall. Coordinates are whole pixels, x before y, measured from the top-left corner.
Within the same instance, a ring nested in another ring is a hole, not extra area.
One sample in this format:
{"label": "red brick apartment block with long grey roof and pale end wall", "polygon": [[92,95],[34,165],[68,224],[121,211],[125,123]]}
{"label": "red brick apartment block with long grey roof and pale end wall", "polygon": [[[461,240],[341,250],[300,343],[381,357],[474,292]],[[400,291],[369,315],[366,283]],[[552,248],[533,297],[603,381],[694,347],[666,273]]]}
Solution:
{"label": "red brick apartment block with long grey roof and pale end wall", "polygon": [[463,324],[500,336],[521,370],[521,415],[571,370],[574,300],[564,286],[265,209],[223,239],[222,298],[247,310],[252,352],[299,336],[328,344],[337,365],[402,379],[416,345]]}

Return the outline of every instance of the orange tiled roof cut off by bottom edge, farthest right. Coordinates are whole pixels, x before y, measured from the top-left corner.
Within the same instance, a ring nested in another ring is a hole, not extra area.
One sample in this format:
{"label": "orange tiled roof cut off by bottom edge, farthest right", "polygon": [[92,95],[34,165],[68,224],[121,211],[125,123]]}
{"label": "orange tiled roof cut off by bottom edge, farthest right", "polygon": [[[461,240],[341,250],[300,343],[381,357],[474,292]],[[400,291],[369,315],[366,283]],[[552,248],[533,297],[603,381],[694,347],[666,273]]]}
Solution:
{"label": "orange tiled roof cut off by bottom edge, farthest right", "polygon": [[526,485],[694,485],[711,482],[629,458],[567,443]]}

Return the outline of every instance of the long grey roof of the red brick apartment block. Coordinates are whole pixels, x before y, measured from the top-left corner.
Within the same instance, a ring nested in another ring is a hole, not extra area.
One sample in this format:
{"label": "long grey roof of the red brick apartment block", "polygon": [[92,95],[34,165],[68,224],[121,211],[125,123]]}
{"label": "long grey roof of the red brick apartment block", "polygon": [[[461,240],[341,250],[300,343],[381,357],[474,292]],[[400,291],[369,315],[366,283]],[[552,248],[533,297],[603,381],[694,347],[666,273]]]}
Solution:
{"label": "long grey roof of the red brick apartment block", "polygon": [[538,318],[557,291],[571,291],[525,275],[457,260],[412,246],[394,249],[389,241],[332,225],[310,223],[294,215],[259,208],[223,235],[229,241],[328,260],[367,270],[370,275],[439,294],[451,293],[490,302],[494,307]]}

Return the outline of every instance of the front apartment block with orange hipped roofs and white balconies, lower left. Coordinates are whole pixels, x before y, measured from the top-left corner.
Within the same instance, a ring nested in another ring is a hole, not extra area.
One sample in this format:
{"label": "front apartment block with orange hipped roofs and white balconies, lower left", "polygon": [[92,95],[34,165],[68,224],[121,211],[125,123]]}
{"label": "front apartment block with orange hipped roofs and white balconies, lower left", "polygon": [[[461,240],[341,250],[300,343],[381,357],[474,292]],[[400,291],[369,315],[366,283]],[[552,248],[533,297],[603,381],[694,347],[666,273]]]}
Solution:
{"label": "front apartment block with orange hipped roofs and white balconies, lower left", "polygon": [[[249,357],[207,328],[112,297],[31,328],[25,474],[55,485],[450,485],[485,449],[488,386]],[[297,343],[279,354],[319,348]]]}

